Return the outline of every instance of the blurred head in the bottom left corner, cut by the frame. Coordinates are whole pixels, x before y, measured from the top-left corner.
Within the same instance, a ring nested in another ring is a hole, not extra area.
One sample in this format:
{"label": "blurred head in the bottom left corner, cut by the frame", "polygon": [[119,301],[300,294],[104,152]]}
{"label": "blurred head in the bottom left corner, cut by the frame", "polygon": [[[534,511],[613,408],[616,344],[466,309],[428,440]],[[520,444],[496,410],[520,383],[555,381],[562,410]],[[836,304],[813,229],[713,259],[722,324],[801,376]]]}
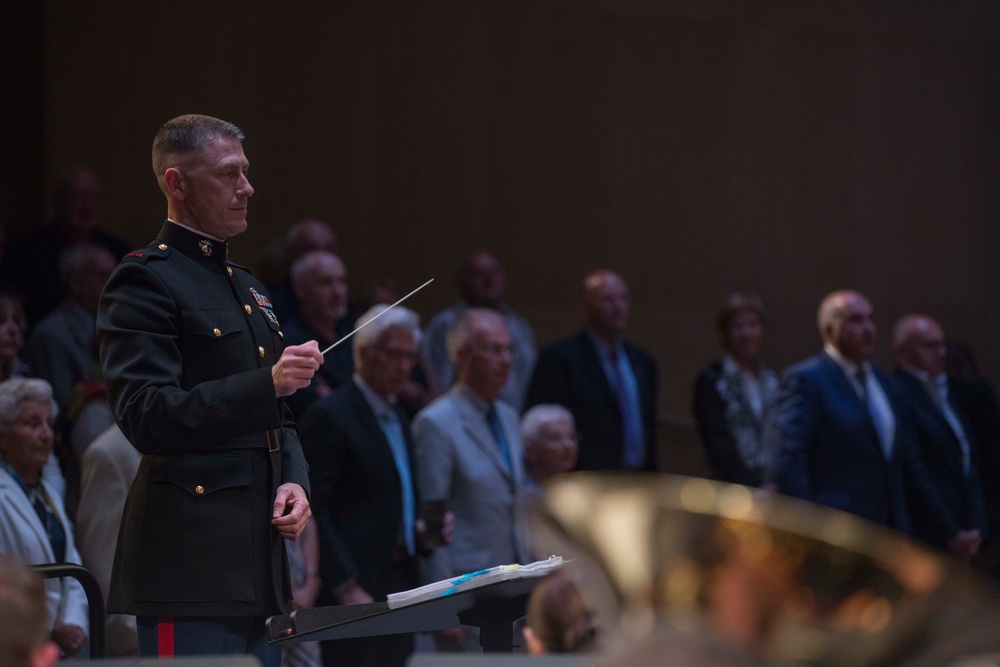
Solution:
{"label": "blurred head in the bottom left corner, cut by the frame", "polygon": [[0,554],[0,667],[52,667],[45,584],[23,560]]}

